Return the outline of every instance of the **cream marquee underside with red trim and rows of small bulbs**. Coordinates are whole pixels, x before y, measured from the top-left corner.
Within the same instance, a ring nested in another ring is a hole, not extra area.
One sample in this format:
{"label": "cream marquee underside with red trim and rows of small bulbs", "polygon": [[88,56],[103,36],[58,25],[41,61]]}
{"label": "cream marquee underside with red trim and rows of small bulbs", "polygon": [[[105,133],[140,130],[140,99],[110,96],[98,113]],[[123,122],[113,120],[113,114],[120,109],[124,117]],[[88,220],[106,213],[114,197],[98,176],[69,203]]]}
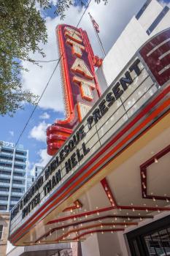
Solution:
{"label": "cream marquee underside with red trim and rows of small bulbs", "polygon": [[[169,120],[170,114],[161,118],[58,208],[36,222],[16,245],[82,241],[93,233],[115,233],[170,211]],[[145,199],[140,165],[167,147],[169,152],[148,167],[147,194],[152,198]],[[156,196],[163,199],[157,200]]]}

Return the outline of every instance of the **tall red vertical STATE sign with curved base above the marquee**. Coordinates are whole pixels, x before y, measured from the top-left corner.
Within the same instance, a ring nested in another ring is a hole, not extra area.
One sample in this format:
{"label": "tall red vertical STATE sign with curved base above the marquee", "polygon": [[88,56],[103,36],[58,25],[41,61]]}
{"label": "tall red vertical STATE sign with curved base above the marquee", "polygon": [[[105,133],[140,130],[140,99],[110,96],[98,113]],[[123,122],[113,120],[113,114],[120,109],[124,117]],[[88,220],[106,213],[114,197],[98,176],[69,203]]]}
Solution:
{"label": "tall red vertical STATE sign with curved base above the marquee", "polygon": [[61,77],[66,119],[47,128],[47,153],[53,155],[100,97],[94,66],[101,59],[94,56],[88,35],[82,29],[59,25],[56,29],[61,55]]}

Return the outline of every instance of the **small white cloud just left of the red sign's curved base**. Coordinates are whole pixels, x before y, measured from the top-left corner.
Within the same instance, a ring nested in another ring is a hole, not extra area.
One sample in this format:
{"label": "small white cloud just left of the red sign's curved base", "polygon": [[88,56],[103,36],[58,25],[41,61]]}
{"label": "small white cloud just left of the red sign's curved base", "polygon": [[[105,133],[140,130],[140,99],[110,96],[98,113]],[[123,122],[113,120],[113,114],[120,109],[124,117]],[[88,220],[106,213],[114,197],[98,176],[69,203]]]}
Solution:
{"label": "small white cloud just left of the red sign's curved base", "polygon": [[29,133],[29,138],[46,142],[46,129],[49,125],[45,121],[42,121],[37,126],[34,126]]}

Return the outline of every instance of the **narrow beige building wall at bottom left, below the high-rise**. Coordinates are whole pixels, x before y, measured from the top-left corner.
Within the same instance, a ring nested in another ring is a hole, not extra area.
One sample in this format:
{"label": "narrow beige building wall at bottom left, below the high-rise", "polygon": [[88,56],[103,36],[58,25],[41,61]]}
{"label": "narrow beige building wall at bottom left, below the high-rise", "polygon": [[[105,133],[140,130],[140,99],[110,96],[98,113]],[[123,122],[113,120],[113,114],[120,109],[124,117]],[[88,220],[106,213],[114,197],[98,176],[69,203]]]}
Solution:
{"label": "narrow beige building wall at bottom left, below the high-rise", "polygon": [[9,229],[9,213],[0,213],[0,225],[3,225],[2,237],[0,240],[0,256],[6,255],[7,238]]}

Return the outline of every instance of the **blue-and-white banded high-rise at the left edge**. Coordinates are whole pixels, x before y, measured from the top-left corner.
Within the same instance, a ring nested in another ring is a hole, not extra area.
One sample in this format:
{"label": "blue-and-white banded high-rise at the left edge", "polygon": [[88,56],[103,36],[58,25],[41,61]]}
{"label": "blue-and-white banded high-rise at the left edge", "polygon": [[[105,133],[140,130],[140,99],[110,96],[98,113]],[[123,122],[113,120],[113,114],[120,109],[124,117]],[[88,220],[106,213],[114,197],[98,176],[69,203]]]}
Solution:
{"label": "blue-and-white banded high-rise at the left edge", "polygon": [[10,211],[26,192],[28,150],[5,141],[0,149],[0,211]]}

